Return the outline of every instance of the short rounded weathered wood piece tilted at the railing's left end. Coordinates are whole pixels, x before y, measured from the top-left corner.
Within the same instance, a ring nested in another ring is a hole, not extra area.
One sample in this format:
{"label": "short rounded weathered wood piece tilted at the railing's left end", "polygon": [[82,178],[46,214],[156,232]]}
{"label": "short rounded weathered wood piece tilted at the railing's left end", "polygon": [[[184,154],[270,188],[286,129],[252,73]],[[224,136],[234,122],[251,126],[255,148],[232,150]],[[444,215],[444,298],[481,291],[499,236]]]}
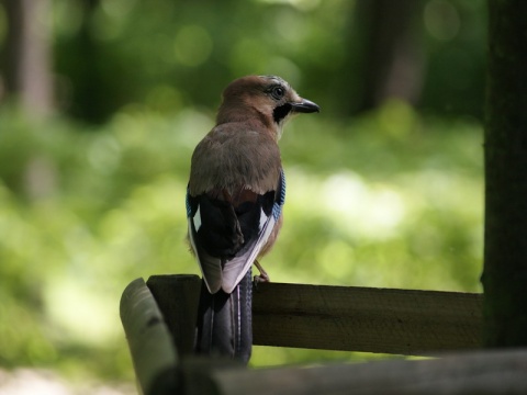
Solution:
{"label": "short rounded weathered wood piece tilted at the railing's left end", "polygon": [[144,394],[175,394],[181,387],[172,338],[143,279],[124,290],[120,306],[135,376]]}

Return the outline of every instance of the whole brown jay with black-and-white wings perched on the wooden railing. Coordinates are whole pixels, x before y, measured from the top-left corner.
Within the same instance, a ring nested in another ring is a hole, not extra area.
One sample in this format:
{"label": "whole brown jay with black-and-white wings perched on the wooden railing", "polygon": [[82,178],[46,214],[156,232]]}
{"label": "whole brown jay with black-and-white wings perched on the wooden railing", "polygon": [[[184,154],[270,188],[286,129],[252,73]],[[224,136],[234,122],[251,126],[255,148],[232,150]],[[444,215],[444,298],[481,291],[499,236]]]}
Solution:
{"label": "whole brown jay with black-and-white wings perched on the wooden railing", "polygon": [[289,119],[319,112],[277,76],[246,76],[222,94],[195,147],[187,187],[188,240],[202,272],[194,351],[250,359],[251,267],[282,226],[285,176],[278,142]]}

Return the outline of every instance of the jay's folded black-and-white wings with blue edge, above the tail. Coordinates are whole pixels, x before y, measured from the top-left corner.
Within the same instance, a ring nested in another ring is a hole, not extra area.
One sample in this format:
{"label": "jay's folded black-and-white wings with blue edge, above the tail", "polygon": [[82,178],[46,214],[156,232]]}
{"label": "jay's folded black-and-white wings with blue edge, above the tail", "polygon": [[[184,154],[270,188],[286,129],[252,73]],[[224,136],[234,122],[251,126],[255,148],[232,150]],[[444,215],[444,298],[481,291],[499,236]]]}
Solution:
{"label": "jay's folded black-and-white wings with blue edge, above the tail", "polygon": [[[250,192],[250,191],[248,191]],[[248,192],[246,194],[248,194]],[[237,201],[187,193],[189,239],[211,293],[233,292],[277,225],[285,199],[280,171],[276,191]]]}

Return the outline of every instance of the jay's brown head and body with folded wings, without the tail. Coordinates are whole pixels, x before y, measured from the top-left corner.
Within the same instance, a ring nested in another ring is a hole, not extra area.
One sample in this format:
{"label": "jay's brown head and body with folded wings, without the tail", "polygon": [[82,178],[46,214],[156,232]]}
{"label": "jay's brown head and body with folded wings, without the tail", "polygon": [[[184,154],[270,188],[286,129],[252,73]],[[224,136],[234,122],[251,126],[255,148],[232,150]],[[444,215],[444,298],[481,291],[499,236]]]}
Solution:
{"label": "jay's brown head and body with folded wings, without the tail", "polygon": [[291,115],[315,111],[279,77],[244,77],[225,89],[216,126],[192,155],[187,199],[189,239],[211,293],[231,293],[270,250],[284,195],[278,140]]}

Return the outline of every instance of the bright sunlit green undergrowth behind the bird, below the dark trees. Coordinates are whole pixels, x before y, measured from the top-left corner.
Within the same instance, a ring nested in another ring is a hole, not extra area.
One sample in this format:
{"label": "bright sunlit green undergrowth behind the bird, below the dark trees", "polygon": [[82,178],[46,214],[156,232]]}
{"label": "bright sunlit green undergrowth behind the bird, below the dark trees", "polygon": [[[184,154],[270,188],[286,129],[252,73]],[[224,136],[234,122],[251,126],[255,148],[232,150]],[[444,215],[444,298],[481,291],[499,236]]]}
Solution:
{"label": "bright sunlit green undergrowth behind the bird, below the dark trees", "polygon": [[[213,119],[135,106],[91,133],[0,117],[0,364],[130,379],[120,295],[137,276],[199,272],[184,191]],[[285,223],[264,261],[272,280],[479,291],[480,143],[473,121],[396,101],[349,122],[294,120],[281,140]],[[253,363],[349,358],[256,348]]]}

